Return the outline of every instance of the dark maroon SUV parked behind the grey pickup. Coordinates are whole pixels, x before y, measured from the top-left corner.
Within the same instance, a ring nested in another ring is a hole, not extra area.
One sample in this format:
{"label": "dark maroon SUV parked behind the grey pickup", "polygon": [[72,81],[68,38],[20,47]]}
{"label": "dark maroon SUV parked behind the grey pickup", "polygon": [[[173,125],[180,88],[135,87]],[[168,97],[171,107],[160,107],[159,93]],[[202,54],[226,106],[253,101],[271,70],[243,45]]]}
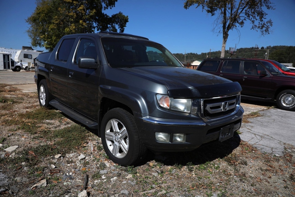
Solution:
{"label": "dark maroon SUV parked behind the grey pickup", "polygon": [[283,74],[264,59],[209,58],[197,68],[239,82],[243,97],[276,100],[283,110],[295,111],[295,76]]}

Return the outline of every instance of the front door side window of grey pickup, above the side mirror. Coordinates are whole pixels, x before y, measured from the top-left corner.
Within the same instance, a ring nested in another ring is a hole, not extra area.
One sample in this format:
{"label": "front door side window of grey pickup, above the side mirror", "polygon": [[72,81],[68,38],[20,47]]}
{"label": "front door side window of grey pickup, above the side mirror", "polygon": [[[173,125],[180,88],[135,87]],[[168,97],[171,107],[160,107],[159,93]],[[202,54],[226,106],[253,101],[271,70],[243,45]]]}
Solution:
{"label": "front door side window of grey pickup, above the side mirror", "polygon": [[75,57],[75,63],[78,64],[79,57],[92,57],[96,60],[97,51],[93,40],[81,39]]}

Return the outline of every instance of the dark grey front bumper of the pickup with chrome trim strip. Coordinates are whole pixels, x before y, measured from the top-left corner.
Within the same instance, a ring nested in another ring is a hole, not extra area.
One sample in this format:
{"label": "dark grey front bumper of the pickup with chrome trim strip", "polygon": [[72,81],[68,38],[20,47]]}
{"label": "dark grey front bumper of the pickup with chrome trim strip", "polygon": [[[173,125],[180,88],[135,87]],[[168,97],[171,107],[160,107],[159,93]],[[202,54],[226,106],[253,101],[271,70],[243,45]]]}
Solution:
{"label": "dark grey front bumper of the pickup with chrome trim strip", "polygon": [[[135,114],[140,139],[148,149],[157,152],[180,152],[191,151],[201,145],[209,144],[219,140],[221,129],[232,125],[237,131],[242,123],[244,110],[242,107],[232,116],[220,118],[215,121],[203,121],[196,117],[196,120],[173,120],[142,117]],[[155,132],[161,133],[184,133],[186,141],[181,143],[159,142],[155,138]]]}

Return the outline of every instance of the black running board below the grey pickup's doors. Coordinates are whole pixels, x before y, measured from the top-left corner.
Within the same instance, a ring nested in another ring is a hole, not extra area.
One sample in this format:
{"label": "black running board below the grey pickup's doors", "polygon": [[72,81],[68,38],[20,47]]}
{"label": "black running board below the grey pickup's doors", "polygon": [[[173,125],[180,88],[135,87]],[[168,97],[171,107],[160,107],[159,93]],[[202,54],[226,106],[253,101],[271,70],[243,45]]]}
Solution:
{"label": "black running board below the grey pickup's doors", "polygon": [[56,109],[62,111],[64,114],[70,116],[74,120],[82,123],[83,125],[86,125],[87,127],[91,129],[97,129],[98,123],[91,120],[90,118],[87,118],[86,116],[82,115],[81,113],[76,112],[75,110],[69,108],[68,106],[62,104],[61,102],[58,102],[57,100],[51,100],[49,102],[49,105],[55,107]]}

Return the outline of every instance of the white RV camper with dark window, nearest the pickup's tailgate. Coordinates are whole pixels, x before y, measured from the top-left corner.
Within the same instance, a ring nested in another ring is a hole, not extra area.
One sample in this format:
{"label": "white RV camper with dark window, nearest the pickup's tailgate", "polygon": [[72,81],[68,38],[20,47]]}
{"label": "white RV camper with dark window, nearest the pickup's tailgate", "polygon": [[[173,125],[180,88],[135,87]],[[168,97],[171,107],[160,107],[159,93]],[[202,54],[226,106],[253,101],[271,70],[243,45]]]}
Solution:
{"label": "white RV camper with dark window, nearest the pickup's tailgate", "polygon": [[25,70],[34,67],[34,59],[40,54],[38,51],[19,50],[17,51],[14,61],[21,62]]}

